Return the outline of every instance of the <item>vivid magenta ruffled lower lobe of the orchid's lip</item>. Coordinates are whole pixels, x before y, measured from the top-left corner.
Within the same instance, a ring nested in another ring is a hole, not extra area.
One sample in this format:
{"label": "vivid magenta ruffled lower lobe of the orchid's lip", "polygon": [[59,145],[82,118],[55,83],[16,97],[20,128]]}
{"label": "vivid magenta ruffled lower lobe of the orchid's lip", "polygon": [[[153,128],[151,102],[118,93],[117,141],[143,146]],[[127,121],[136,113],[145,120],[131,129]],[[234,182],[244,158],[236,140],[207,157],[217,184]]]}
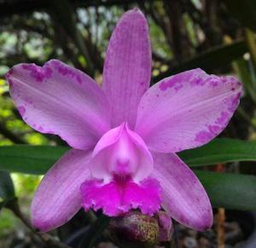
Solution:
{"label": "vivid magenta ruffled lower lobe of the orchid's lip", "polygon": [[153,178],[144,179],[140,184],[120,178],[108,184],[90,180],[81,186],[84,210],[102,209],[108,216],[118,216],[137,208],[152,216],[160,210],[160,190],[159,182]]}

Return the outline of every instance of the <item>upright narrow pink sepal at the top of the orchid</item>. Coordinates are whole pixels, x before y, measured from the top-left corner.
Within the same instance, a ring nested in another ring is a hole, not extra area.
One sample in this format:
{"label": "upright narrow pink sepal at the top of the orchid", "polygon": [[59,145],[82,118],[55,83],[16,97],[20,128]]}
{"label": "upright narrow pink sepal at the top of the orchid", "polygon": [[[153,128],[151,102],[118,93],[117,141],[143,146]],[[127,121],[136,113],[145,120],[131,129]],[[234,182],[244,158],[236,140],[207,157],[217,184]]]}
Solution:
{"label": "upright narrow pink sepal at the top of the orchid", "polygon": [[134,127],[137,104],[150,76],[148,23],[140,10],[129,10],[113,32],[104,64],[103,89],[111,103],[113,127],[124,121]]}

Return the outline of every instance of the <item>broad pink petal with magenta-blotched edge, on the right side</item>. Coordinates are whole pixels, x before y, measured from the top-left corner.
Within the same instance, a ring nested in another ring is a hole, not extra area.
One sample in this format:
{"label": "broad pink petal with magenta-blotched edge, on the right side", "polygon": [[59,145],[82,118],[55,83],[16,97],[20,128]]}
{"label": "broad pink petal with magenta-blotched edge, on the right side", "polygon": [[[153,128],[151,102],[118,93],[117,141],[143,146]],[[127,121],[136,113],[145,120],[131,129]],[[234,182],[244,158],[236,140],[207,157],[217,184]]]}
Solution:
{"label": "broad pink petal with magenta-blotched edge, on the right side", "polygon": [[241,83],[201,69],[163,79],[140,101],[135,131],[152,149],[176,153],[199,147],[224,130],[239,104]]}

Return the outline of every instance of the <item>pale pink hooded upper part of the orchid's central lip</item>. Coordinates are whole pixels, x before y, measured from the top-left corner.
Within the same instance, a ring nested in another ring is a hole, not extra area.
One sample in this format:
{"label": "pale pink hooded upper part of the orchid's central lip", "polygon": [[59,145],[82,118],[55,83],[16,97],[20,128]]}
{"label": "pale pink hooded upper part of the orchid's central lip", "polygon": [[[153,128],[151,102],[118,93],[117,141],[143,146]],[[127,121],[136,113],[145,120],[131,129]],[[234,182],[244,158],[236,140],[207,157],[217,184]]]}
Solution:
{"label": "pale pink hooded upper part of the orchid's central lip", "polygon": [[90,163],[92,176],[110,182],[114,175],[140,182],[153,170],[153,159],[143,139],[127,124],[109,130],[96,144]]}

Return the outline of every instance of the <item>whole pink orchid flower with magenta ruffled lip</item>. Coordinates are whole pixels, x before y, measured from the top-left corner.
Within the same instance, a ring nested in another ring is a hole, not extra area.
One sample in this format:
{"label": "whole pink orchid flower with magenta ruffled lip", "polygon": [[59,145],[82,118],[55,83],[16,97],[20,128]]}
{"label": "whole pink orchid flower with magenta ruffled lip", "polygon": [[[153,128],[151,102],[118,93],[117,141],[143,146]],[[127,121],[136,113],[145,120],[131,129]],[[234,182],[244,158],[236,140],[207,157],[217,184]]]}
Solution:
{"label": "whole pink orchid flower with magenta ruffled lip", "polygon": [[224,130],[241,83],[194,69],[148,89],[150,75],[148,24],[138,9],[126,12],[113,32],[102,88],[56,60],[8,72],[10,94],[26,124],[72,147],[35,193],[35,228],[57,228],[82,206],[108,216],[131,209],[153,216],[163,208],[187,227],[211,227],[207,193],[176,153]]}

